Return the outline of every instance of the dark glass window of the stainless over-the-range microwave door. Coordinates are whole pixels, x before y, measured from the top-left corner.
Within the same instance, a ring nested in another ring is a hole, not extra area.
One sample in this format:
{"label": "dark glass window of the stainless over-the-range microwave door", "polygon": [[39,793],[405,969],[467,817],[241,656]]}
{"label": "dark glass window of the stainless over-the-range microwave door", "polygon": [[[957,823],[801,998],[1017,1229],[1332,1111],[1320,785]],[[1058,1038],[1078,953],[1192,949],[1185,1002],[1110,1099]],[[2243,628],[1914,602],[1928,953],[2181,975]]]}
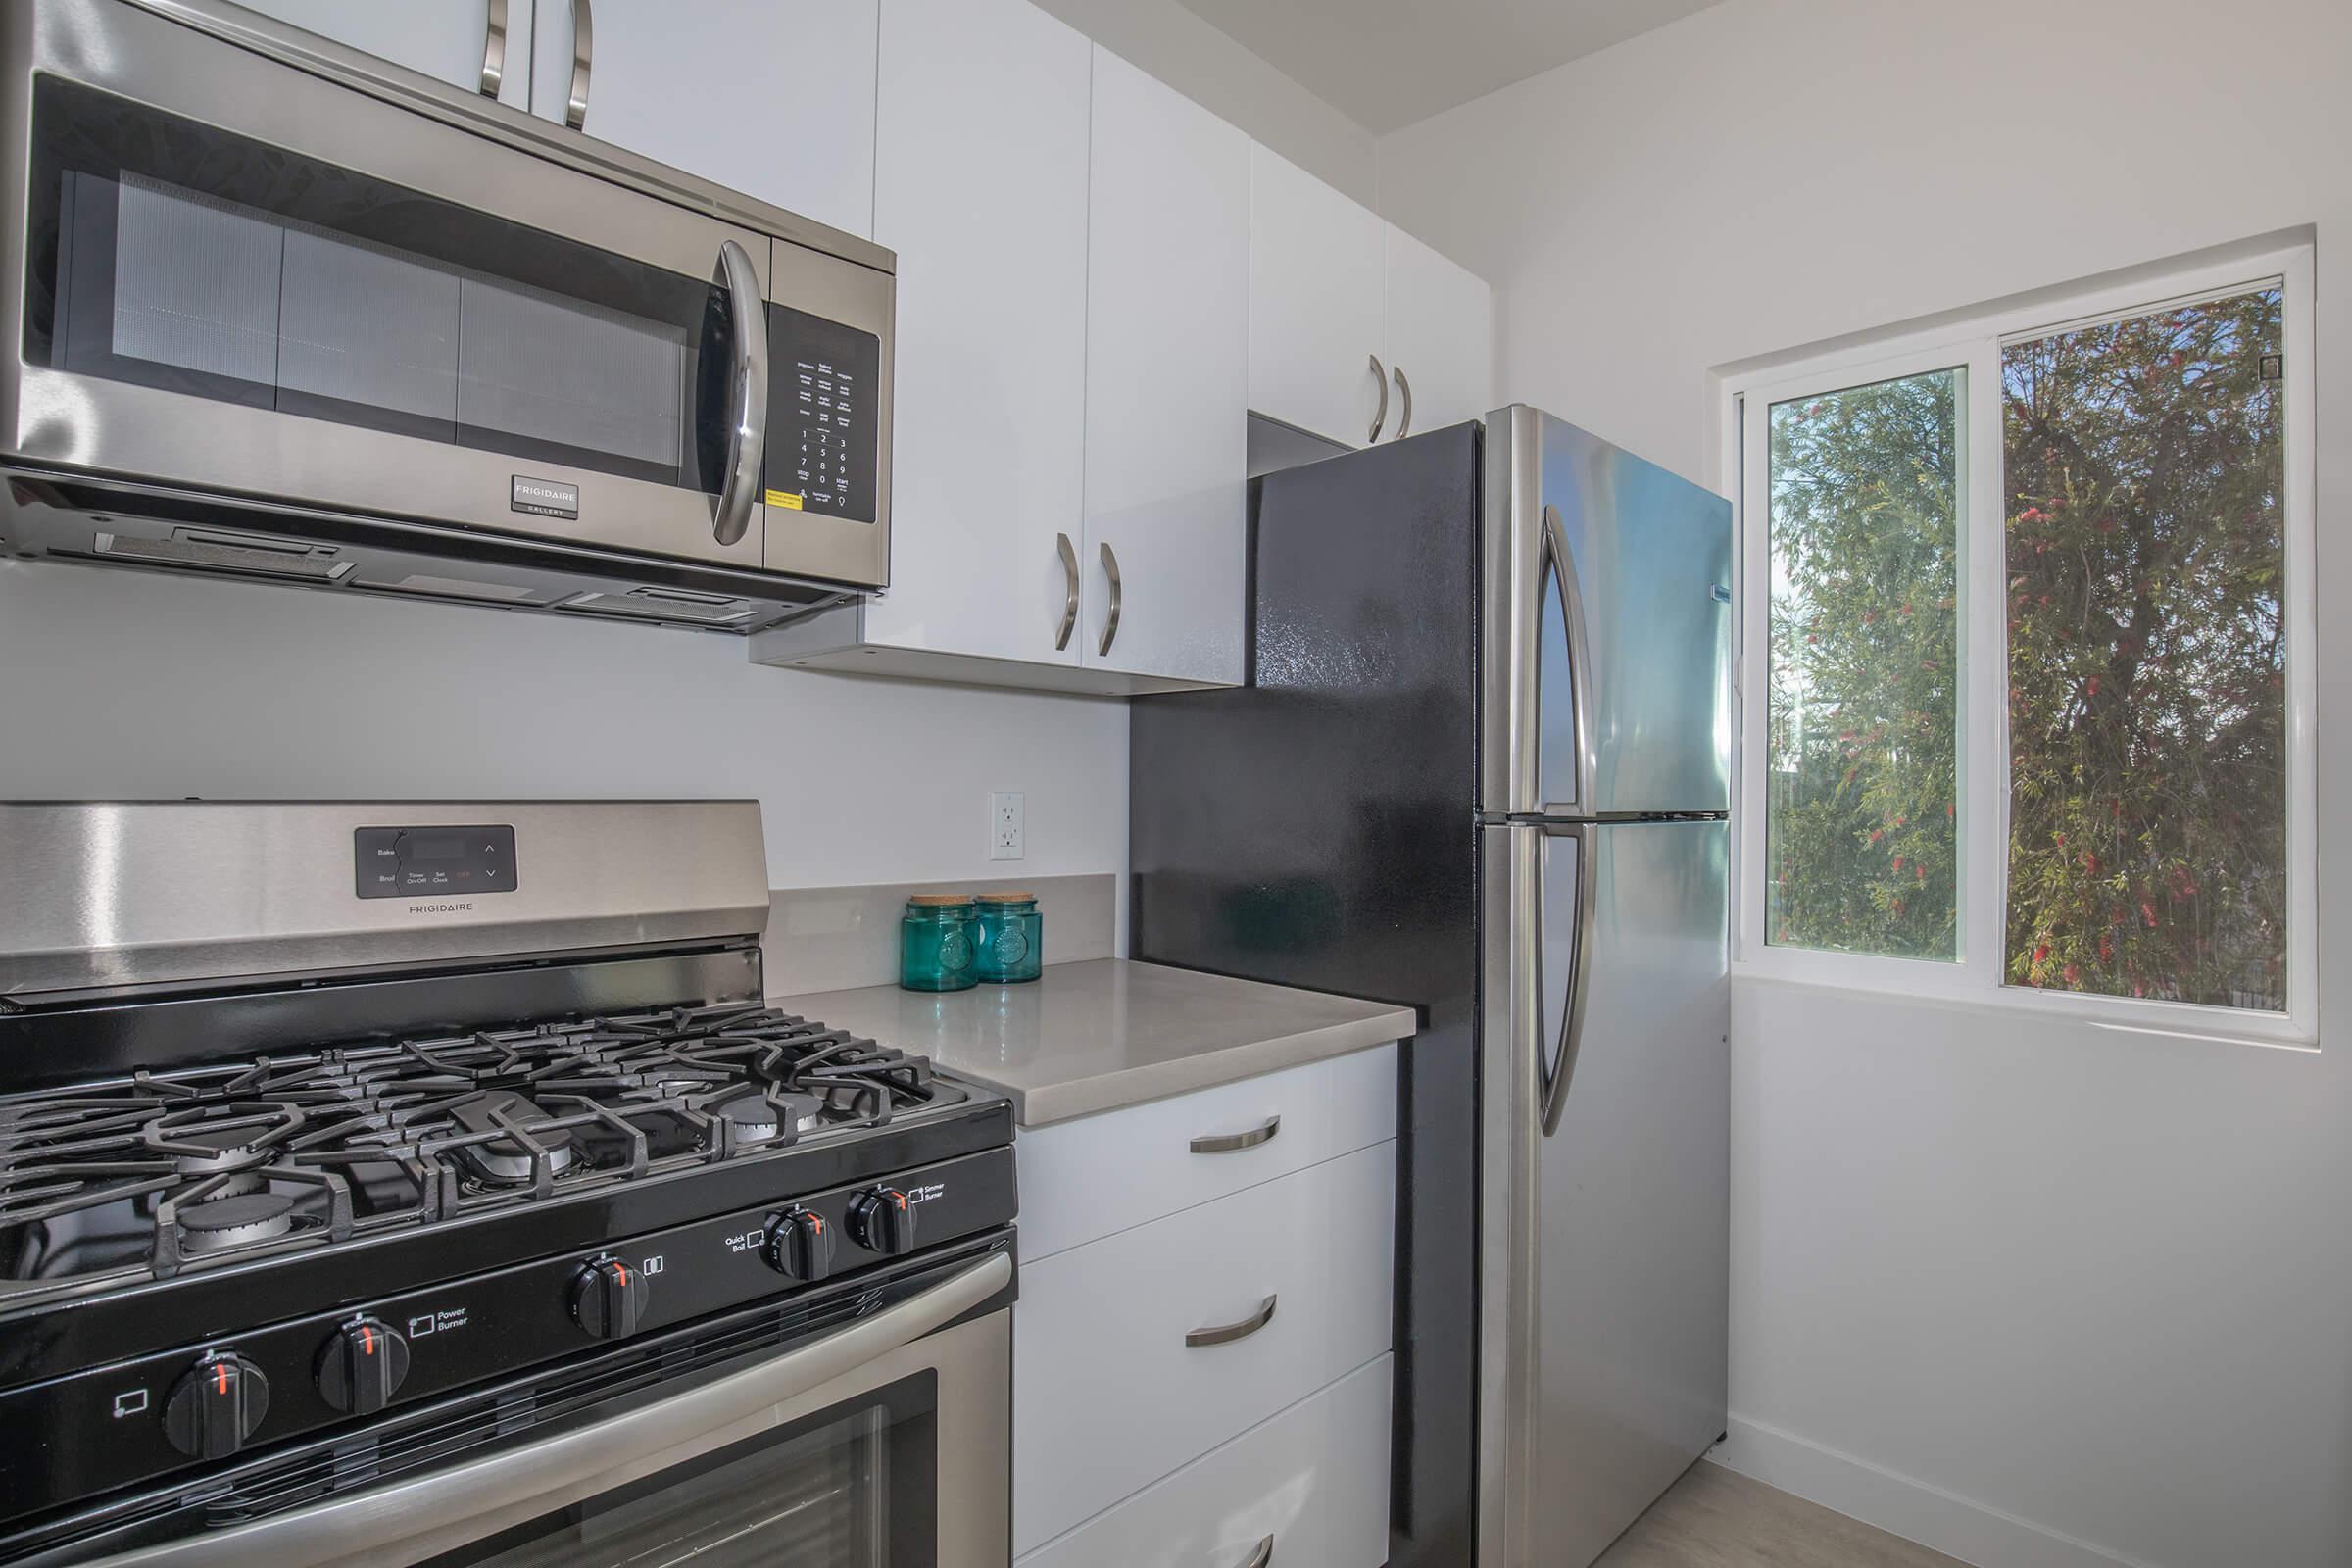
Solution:
{"label": "dark glass window of the stainless over-the-range microwave door", "polygon": [[31,364],[720,491],[717,277],[47,75],[31,162]]}

